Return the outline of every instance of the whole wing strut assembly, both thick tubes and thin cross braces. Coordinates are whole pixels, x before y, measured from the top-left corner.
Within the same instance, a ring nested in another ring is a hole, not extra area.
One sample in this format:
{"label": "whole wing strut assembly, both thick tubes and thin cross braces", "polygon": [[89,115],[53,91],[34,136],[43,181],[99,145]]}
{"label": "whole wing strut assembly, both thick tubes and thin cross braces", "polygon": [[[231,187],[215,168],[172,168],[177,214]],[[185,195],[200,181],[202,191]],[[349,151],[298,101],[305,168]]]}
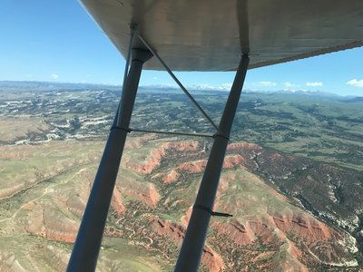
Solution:
{"label": "whole wing strut assembly, both thick tubes and thin cross braces", "polygon": [[[138,36],[146,50],[132,48],[134,35]],[[172,78],[181,87],[192,103],[200,110],[202,115],[210,121],[211,125],[218,131],[214,135],[201,133],[175,133],[168,131],[144,131],[132,130],[129,128],[133,104],[136,98],[142,65],[154,55],[165,67]],[[130,58],[131,57],[131,58]],[[131,67],[129,63],[131,59]],[[75,240],[74,249],[68,263],[67,272],[94,271],[97,265],[97,258],[101,248],[103,229],[105,227],[108,210],[113,196],[113,188],[117,178],[120,161],[123,155],[123,147],[127,133],[131,131],[158,132],[167,134],[181,134],[199,137],[214,138],[210,158],[204,171],[201,187],[193,206],[191,219],[187,228],[182,249],[175,267],[177,272],[194,272],[198,270],[201,253],[206,238],[206,233],[211,216],[229,217],[231,215],[212,211],[214,199],[218,189],[221,176],[224,156],[230,140],[231,127],[237,106],[240,100],[240,92],[244,83],[250,58],[243,54],[240,59],[236,76],[234,78],[231,92],[221,117],[220,125],[211,120],[201,106],[192,98],[191,94],[184,88],[182,83],[175,77],[169,67],[163,63],[159,55],[152,50],[152,47],[142,38],[135,27],[132,27],[129,54],[126,60],[126,68],[123,79],[123,95],[119,103],[109,138],[103,151],[103,157],[93,182],[90,197],[85,208],[81,226]]]}

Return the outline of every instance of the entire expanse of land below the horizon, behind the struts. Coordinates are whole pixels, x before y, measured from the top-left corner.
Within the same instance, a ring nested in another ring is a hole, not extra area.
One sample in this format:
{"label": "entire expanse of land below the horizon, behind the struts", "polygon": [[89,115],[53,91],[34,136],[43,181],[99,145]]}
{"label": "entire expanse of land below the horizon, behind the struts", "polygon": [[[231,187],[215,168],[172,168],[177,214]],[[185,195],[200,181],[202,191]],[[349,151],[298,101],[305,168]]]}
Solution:
{"label": "entire expanse of land below the horizon, behind the struts", "polygon": [[[64,271],[119,92],[7,83],[0,92],[0,270]],[[218,121],[223,92],[196,92]],[[359,271],[362,102],[242,97],[201,271]],[[359,115],[360,114],[360,115]],[[132,128],[211,132],[177,90],[141,90]],[[98,271],[170,271],[211,140],[132,132]]]}

